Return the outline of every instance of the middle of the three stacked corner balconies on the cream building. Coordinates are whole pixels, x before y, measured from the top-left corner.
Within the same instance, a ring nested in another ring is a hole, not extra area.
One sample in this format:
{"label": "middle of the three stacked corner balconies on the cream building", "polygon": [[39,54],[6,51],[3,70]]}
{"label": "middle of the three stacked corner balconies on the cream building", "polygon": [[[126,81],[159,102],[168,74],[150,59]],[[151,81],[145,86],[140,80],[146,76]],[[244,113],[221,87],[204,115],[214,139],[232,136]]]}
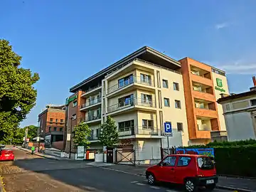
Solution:
{"label": "middle of the three stacked corner balconies on the cream building", "polygon": [[107,114],[115,112],[127,112],[127,110],[140,109],[145,111],[156,110],[156,102],[154,100],[144,100],[142,98],[131,98],[124,102],[107,107]]}

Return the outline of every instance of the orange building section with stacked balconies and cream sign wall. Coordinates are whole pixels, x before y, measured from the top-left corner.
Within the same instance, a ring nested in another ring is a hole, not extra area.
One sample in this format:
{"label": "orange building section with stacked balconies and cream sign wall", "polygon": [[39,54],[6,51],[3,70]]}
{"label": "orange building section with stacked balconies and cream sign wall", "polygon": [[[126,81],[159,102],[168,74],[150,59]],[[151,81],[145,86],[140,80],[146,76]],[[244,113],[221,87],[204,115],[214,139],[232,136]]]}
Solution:
{"label": "orange building section with stacked balconies and cream sign wall", "polygon": [[190,144],[226,138],[223,108],[216,101],[229,94],[225,72],[191,58],[179,60],[183,76]]}

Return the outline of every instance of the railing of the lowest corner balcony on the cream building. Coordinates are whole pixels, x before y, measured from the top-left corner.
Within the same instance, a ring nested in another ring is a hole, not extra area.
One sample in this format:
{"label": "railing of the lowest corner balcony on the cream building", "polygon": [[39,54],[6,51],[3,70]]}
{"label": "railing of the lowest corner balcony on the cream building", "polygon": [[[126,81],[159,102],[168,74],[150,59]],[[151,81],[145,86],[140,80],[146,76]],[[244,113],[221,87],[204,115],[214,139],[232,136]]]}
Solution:
{"label": "railing of the lowest corner balcony on the cream building", "polygon": [[134,134],[143,134],[143,135],[157,135],[156,127],[143,127],[143,126],[134,126],[134,127],[122,127],[118,129],[119,137],[124,137]]}

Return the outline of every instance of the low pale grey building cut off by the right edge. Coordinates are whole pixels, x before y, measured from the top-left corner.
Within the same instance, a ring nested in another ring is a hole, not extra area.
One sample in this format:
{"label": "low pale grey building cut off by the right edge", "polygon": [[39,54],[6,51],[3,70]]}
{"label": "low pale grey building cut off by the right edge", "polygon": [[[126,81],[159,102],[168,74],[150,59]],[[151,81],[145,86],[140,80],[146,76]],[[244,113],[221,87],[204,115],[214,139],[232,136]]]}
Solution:
{"label": "low pale grey building cut off by the right edge", "polygon": [[256,81],[249,92],[223,95],[218,100],[223,106],[228,141],[256,139]]}

